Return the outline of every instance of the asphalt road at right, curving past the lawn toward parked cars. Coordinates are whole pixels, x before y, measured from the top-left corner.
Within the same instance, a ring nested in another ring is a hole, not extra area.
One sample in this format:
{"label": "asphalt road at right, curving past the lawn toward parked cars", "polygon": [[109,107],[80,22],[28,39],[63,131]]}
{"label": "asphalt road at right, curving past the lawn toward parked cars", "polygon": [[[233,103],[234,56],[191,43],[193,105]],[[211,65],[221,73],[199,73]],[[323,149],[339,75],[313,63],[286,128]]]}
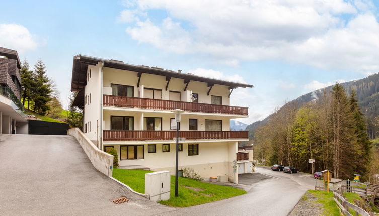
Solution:
{"label": "asphalt road at right, curving past the lawn toward parked cars", "polygon": [[203,205],[177,209],[161,215],[288,215],[307,189],[314,189],[312,175],[288,174],[257,167],[272,178],[250,185],[248,193]]}

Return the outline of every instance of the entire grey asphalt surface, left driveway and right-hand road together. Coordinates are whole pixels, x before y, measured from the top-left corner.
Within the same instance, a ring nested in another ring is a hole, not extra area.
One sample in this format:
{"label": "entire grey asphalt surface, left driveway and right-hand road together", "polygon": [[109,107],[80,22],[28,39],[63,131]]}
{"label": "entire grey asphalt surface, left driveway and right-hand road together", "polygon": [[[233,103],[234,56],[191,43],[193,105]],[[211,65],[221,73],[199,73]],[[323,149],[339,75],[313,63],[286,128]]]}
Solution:
{"label": "entire grey asphalt surface, left driveway and right-hand road together", "polygon": [[[247,194],[172,208],[136,195],[97,171],[71,136],[3,135],[0,140],[0,215],[280,216],[314,187],[309,174],[257,167],[257,174],[240,176]],[[110,202],[121,196],[130,202]]]}

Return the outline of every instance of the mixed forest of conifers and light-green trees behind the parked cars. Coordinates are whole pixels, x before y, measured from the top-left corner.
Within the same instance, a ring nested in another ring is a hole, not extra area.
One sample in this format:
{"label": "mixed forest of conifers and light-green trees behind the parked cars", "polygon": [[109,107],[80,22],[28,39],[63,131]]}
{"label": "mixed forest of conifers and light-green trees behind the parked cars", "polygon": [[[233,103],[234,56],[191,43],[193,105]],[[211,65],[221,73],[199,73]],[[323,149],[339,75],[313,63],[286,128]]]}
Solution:
{"label": "mixed forest of conifers and light-green trees behind the parked cars", "polygon": [[[379,126],[379,118],[372,124]],[[360,174],[372,180],[378,173],[377,146],[369,139],[358,96],[338,83],[317,100],[294,100],[276,109],[253,136],[255,159],[265,165],[291,165],[308,173],[329,169],[341,179]]]}

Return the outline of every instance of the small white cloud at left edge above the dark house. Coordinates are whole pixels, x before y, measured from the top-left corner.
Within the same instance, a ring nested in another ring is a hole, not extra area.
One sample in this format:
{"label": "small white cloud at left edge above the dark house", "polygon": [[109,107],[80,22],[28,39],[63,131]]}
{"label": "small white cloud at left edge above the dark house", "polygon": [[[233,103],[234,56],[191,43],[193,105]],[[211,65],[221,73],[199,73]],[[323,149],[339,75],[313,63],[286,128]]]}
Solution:
{"label": "small white cloud at left edge above the dark house", "polygon": [[0,45],[24,52],[36,49],[38,43],[26,27],[19,24],[0,24]]}

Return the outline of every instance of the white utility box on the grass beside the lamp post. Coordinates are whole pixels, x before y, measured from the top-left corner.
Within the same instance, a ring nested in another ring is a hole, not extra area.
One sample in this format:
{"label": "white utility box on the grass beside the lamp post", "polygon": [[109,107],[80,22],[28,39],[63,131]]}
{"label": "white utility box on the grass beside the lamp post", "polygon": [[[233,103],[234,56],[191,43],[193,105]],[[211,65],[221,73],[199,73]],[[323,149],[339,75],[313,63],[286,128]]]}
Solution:
{"label": "white utility box on the grass beside the lamp post", "polygon": [[155,202],[170,199],[170,171],[146,173],[145,193]]}

